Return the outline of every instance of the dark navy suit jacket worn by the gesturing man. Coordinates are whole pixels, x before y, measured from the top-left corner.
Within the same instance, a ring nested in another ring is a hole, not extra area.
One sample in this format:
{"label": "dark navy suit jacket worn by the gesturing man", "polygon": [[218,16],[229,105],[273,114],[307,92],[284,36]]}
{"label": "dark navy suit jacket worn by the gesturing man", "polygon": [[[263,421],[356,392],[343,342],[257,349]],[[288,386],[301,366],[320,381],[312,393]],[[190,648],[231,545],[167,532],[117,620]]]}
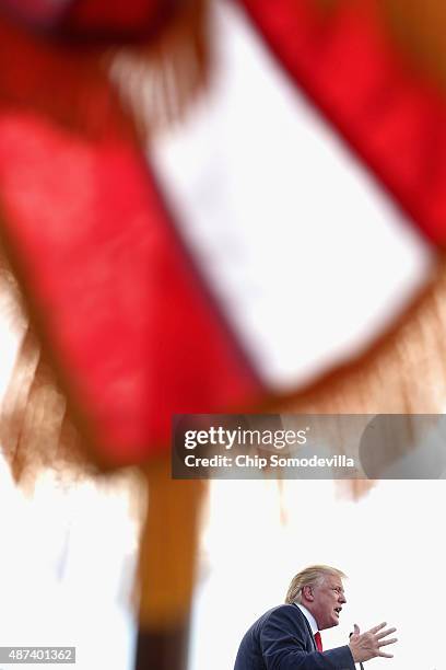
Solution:
{"label": "dark navy suit jacket worn by the gesturing man", "polygon": [[294,604],[266,612],[245,634],[234,670],[354,670],[350,648],[317,651],[308,621]]}

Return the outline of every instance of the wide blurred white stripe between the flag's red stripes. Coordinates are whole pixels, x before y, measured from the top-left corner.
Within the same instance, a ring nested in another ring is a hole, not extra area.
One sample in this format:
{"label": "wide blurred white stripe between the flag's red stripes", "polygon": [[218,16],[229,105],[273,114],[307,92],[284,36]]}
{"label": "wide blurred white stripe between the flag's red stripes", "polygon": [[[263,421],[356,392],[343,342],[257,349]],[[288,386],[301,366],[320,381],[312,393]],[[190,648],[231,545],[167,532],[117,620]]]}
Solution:
{"label": "wide blurred white stripe between the flag's red stripes", "polygon": [[181,232],[265,380],[361,349],[431,252],[279,71],[242,14],[215,14],[211,94],[153,160]]}

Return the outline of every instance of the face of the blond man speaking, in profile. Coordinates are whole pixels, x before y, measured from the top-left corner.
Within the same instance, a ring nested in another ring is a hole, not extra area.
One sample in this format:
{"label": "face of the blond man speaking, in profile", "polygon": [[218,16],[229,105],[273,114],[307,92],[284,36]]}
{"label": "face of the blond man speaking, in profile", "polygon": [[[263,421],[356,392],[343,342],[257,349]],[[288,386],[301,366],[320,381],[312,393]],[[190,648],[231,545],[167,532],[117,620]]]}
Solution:
{"label": "face of the blond man speaking, in profile", "polygon": [[[307,604],[305,603],[305,591],[309,598]],[[342,580],[334,575],[325,575],[320,584],[304,587],[303,604],[316,619],[319,631],[339,624],[339,615],[345,602]]]}

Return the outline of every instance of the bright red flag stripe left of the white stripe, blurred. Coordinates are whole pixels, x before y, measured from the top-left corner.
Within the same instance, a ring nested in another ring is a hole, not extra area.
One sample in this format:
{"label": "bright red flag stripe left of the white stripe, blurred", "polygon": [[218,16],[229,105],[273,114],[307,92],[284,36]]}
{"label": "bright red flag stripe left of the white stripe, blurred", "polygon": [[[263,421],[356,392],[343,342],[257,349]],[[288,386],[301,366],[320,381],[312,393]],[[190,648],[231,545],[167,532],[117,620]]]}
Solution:
{"label": "bright red flag stripe left of the white stripe, blurred", "polygon": [[9,247],[103,462],[165,448],[175,412],[254,402],[260,384],[138,150],[3,116],[0,177]]}

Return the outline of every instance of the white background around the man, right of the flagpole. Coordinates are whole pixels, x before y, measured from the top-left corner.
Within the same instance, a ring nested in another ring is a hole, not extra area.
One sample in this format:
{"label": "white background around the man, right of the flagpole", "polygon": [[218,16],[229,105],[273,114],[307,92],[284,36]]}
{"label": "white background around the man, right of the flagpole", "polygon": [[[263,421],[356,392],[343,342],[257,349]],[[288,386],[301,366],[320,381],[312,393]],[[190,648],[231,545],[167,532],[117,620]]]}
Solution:
{"label": "white background around the man, right of the flagpole", "polygon": [[246,628],[283,602],[293,575],[314,563],[349,576],[340,625],[322,634],[326,648],[345,644],[354,623],[365,631],[387,621],[398,627],[395,658],[366,668],[446,668],[445,482],[380,482],[359,503],[340,493],[332,482],[285,482],[289,522],[281,525],[272,483],[213,484],[191,670],[232,668]]}

